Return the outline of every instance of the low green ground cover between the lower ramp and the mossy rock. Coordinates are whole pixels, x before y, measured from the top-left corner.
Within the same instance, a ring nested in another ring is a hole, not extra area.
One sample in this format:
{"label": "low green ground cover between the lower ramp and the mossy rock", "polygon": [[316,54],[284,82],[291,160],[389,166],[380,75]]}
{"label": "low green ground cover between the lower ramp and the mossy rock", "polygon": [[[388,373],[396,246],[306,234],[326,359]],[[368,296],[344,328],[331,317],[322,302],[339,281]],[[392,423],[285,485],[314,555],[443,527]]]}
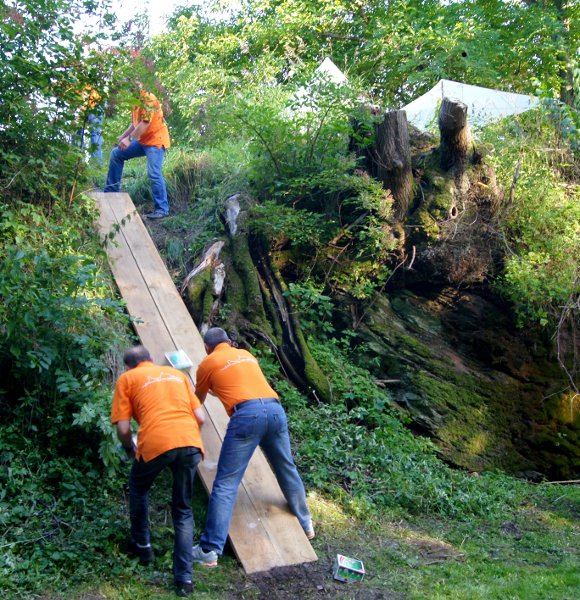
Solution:
{"label": "low green ground cover between the lower ramp and the mossy rock", "polygon": [[275,387],[290,412],[297,461],[311,486],[353,511],[460,519],[501,518],[522,499],[525,484],[494,473],[473,478],[447,467],[427,439],[405,429],[388,394],[366,369],[353,366],[343,344],[309,342],[329,377],[332,403],[312,405],[283,379]]}

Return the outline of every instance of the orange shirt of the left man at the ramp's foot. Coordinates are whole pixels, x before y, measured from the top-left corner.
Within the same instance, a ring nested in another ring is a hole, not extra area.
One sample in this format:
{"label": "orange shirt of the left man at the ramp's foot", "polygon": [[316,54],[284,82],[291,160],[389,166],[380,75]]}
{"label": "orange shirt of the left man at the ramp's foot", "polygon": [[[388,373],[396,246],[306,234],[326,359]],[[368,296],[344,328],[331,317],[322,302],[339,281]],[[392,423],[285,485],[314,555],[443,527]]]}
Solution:
{"label": "orange shirt of the left man at the ramp's foot", "polygon": [[187,377],[173,367],[144,361],[117,380],[111,422],[139,423],[137,458],[145,462],[185,446],[203,452],[201,431],[193,411],[201,406]]}

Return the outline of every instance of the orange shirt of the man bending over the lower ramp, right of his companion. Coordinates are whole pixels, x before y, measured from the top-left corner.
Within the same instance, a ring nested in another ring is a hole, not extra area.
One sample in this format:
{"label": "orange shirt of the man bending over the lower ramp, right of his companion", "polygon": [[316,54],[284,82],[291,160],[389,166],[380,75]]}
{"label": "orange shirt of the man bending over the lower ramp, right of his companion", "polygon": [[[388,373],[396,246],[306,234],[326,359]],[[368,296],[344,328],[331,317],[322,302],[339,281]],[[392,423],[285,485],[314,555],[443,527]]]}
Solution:
{"label": "orange shirt of the man bending over the lower ramp, right of his companion", "polygon": [[266,381],[258,361],[246,350],[218,344],[197,368],[196,392],[210,391],[231,416],[233,407],[253,398],[278,398]]}

